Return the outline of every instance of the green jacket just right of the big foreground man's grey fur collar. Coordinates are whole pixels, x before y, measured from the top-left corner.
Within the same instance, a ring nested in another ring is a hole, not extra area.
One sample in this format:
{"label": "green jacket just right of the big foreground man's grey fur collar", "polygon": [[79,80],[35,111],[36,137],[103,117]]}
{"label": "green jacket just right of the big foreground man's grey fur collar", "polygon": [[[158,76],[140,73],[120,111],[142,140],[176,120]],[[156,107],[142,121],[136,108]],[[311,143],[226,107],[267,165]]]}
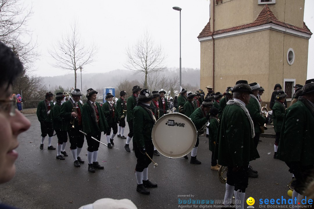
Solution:
{"label": "green jacket just right of the big foreground man's grey fur collar", "polygon": [[[250,95],[251,96],[251,95]],[[255,97],[255,96],[253,96]],[[257,98],[250,98],[250,102],[246,105],[247,110],[250,113],[252,121],[254,123],[254,131],[255,133],[260,133],[259,127],[263,126],[266,122],[266,118],[261,115],[260,104],[257,101]]]}

